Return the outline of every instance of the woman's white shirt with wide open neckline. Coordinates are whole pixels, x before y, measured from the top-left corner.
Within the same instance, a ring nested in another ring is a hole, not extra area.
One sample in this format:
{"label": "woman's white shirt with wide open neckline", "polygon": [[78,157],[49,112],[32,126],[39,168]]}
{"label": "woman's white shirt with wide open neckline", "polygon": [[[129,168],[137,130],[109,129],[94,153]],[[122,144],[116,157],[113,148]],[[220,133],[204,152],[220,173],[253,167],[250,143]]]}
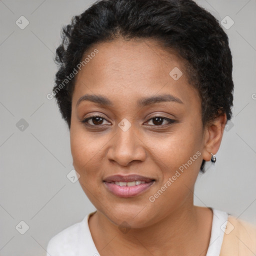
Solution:
{"label": "woman's white shirt with wide open neckline", "polygon": [[[212,208],[213,218],[210,242],[206,256],[218,256],[224,232],[221,226],[225,225],[228,214]],[[46,256],[100,256],[92,240],[87,214],[81,222],[75,223],[56,235],[48,242]]]}

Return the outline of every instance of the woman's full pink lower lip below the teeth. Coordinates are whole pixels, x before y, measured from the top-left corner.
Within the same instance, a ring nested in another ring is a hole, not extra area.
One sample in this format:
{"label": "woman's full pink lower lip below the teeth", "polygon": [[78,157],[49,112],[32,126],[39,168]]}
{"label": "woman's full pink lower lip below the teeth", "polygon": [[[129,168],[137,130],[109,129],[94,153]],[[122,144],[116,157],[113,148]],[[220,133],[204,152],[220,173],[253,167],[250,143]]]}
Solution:
{"label": "woman's full pink lower lip below the teeth", "polygon": [[119,197],[132,197],[136,196],[146,189],[148,189],[154,181],[146,182],[144,184],[134,185],[134,186],[119,186],[116,184],[108,183],[103,181],[106,187],[112,192],[113,194]]}

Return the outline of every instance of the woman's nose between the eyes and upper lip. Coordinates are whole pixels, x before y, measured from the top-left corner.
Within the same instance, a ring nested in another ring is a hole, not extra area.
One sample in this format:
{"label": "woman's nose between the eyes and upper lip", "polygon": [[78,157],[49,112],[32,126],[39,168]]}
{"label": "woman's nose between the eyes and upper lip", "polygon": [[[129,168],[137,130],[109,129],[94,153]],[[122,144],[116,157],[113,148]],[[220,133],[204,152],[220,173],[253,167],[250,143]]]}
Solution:
{"label": "woman's nose between the eyes and upper lip", "polygon": [[145,160],[145,144],[143,138],[135,129],[134,125],[131,125],[126,131],[117,127],[116,134],[111,140],[107,152],[108,160],[115,161],[122,166],[127,166],[132,161]]}

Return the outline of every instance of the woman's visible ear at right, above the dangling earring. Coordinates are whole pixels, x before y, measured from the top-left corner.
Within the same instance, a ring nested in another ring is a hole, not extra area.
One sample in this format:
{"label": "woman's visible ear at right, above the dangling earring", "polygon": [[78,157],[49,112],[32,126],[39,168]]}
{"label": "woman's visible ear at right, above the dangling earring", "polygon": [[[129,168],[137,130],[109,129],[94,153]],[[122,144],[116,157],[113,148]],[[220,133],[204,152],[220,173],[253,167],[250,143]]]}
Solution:
{"label": "woman's visible ear at right, above the dangling earring", "polygon": [[222,113],[217,116],[214,121],[206,124],[204,129],[204,147],[202,152],[202,158],[205,161],[209,161],[211,154],[215,154],[218,151],[220,142],[222,139],[224,127],[226,124],[226,114]]}

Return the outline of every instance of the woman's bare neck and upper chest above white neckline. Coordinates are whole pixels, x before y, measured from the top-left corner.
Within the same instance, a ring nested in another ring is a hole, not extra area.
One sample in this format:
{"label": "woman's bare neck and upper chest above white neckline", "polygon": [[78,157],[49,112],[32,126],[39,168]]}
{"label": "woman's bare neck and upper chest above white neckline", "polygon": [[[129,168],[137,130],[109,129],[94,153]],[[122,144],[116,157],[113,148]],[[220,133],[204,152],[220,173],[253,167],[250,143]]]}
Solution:
{"label": "woman's bare neck and upper chest above white neckline", "polygon": [[[202,212],[203,211],[203,212]],[[208,212],[206,219],[205,212]],[[100,255],[206,255],[210,226],[205,227],[209,209],[184,203],[155,224],[121,232],[104,214],[97,211],[89,226]],[[203,214],[202,214],[203,213]],[[96,228],[95,228],[96,227]],[[160,246],[159,246],[160,245]]]}

